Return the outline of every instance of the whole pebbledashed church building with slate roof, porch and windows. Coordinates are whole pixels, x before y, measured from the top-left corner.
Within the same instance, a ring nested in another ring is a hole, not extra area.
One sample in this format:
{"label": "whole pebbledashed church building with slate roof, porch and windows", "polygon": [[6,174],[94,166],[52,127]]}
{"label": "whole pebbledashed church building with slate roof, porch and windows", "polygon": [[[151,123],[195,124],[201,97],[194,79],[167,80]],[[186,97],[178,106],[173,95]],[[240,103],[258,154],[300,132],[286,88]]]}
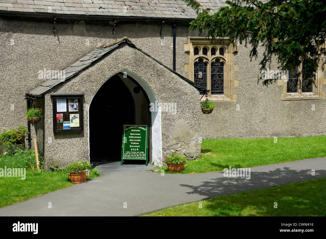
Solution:
{"label": "whole pebbledashed church building with slate roof, porch and windows", "polygon": [[[325,135],[321,67],[316,86],[265,87],[250,47],[189,30],[196,16],[183,1],[0,0],[0,127],[28,127],[47,168],[119,160],[124,124],[149,126],[156,165],[171,150],[199,157],[202,139]],[[24,116],[33,103],[37,124]]]}

